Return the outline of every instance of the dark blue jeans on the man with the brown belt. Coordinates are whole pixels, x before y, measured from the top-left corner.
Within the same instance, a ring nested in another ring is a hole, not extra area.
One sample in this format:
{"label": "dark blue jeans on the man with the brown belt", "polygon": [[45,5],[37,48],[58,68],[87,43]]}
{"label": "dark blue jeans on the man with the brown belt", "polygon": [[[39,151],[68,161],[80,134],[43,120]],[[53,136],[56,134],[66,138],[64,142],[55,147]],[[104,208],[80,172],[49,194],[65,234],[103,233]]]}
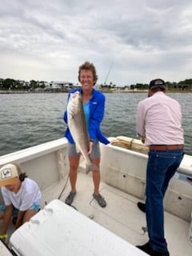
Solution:
{"label": "dark blue jeans on the man with the brown belt", "polygon": [[146,223],[150,246],[160,252],[167,251],[163,198],[183,155],[183,150],[149,152],[146,170]]}

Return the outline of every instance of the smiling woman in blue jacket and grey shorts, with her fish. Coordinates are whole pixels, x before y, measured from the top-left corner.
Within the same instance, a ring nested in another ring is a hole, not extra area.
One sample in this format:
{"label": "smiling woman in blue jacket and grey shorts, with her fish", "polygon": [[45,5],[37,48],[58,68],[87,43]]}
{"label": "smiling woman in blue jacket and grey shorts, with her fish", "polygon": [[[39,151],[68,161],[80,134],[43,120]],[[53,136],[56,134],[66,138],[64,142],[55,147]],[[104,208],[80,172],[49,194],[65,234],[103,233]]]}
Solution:
{"label": "smiling woman in blue jacket and grey shorts, with her fish", "polygon": [[71,205],[76,195],[76,181],[78,165],[82,154],[86,162],[86,173],[92,171],[94,182],[93,197],[99,206],[105,207],[106,200],[99,194],[100,184],[100,149],[99,143],[108,144],[109,141],[100,130],[105,110],[105,96],[95,90],[94,85],[98,80],[95,67],[90,62],[79,66],[78,81],[82,88],[72,90],[68,97],[68,104],[64,113],[64,121],[67,123],[65,137],[68,139],[68,156],[70,162],[70,194],[66,198],[66,204]]}

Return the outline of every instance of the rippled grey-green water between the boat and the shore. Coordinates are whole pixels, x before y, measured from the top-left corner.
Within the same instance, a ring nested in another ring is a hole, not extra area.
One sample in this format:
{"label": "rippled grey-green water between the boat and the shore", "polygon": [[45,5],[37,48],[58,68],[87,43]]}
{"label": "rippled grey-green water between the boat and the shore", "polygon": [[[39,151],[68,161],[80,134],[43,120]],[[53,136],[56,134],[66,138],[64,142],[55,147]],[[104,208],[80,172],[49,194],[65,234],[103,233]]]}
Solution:
{"label": "rippled grey-green water between the boat and the shore", "polygon": [[[185,151],[192,154],[191,94],[169,94],[182,105]],[[102,132],[136,138],[135,114],[142,94],[106,94]],[[0,94],[0,155],[62,138],[67,94]]]}

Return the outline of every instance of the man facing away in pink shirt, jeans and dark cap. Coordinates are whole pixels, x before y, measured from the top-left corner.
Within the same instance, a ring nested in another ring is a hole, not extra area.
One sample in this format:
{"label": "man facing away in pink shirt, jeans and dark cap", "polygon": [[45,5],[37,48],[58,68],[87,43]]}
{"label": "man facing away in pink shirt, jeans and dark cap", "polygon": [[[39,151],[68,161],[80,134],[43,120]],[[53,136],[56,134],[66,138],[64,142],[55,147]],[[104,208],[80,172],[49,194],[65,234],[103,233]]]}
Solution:
{"label": "man facing away in pink shirt, jeans and dark cap", "polygon": [[166,95],[166,83],[162,79],[150,81],[148,96],[138,103],[136,129],[150,149],[146,204],[138,202],[139,209],[146,211],[149,241],[137,247],[152,256],[169,256],[164,236],[163,198],[184,154],[182,110],[176,100]]}

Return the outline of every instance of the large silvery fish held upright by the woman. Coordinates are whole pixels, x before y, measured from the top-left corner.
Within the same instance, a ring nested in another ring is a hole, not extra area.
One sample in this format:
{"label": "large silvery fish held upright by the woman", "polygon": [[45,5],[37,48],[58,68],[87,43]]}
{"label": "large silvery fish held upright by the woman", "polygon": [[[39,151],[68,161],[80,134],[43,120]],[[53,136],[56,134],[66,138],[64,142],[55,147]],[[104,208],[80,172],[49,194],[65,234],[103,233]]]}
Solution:
{"label": "large silvery fish held upright by the woman", "polygon": [[98,170],[98,166],[91,162],[88,151],[90,150],[90,138],[86,127],[86,118],[82,106],[82,94],[77,91],[70,94],[67,104],[67,125],[70,134],[74,138],[77,152],[80,152],[86,162],[86,174],[90,170]]}

